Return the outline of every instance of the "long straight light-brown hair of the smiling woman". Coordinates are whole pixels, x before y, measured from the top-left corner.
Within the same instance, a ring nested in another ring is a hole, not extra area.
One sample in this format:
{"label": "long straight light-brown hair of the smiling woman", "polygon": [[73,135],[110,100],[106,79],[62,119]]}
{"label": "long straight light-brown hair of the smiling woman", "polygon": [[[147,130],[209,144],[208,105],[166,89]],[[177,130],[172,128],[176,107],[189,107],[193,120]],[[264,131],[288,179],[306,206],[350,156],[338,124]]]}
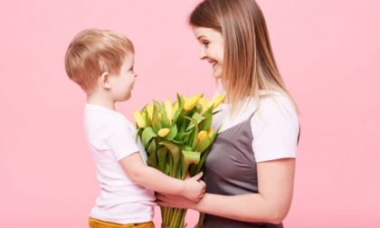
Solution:
{"label": "long straight light-brown hair of the smiling woman", "polygon": [[260,105],[260,90],[277,90],[298,111],[281,78],[264,16],[254,0],[204,0],[190,14],[189,24],[222,33],[222,83],[233,110],[249,97]]}

